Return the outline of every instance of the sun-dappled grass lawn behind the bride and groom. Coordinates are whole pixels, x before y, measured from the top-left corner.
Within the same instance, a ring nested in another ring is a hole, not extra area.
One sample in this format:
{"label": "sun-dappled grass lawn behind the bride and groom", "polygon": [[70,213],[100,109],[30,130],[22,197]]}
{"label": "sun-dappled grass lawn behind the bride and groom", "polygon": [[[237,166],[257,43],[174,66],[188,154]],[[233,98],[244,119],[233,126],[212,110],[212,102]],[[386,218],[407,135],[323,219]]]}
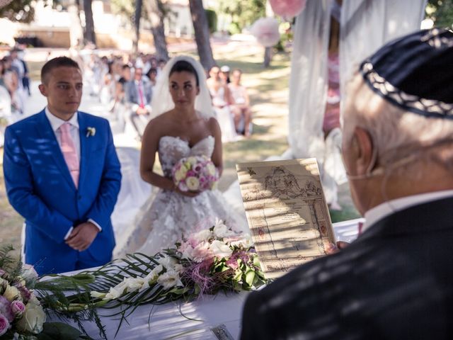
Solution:
{"label": "sun-dappled grass lawn behind the bride and groom", "polygon": [[[236,163],[254,162],[280,155],[287,145],[287,101],[289,84],[289,55],[275,55],[272,67],[263,69],[263,53],[247,49],[218,52],[219,65],[243,71],[243,84],[248,88],[253,107],[253,135],[250,139],[224,144],[224,174],[219,188],[225,190],[236,181]],[[39,79],[44,62],[29,62],[30,74]],[[0,149],[3,159],[3,150]],[[0,160],[1,168],[1,160]],[[339,188],[343,210],[331,213],[333,222],[359,216],[352,205],[348,186]],[[3,169],[0,169],[0,244],[18,246],[23,219],[13,210],[6,198]]]}

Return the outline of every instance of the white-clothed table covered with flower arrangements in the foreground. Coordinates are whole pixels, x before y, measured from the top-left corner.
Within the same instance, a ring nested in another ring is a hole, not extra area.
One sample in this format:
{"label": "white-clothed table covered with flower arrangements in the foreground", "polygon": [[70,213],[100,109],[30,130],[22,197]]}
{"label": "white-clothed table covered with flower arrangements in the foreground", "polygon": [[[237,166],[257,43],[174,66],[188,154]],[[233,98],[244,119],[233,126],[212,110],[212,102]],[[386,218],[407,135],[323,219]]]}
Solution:
{"label": "white-clothed table covered with flower arrangements in the foreground", "polygon": [[[351,242],[358,223],[333,225]],[[39,278],[0,249],[0,340],[239,339],[243,302],[268,283],[249,234],[219,221],[153,256]]]}

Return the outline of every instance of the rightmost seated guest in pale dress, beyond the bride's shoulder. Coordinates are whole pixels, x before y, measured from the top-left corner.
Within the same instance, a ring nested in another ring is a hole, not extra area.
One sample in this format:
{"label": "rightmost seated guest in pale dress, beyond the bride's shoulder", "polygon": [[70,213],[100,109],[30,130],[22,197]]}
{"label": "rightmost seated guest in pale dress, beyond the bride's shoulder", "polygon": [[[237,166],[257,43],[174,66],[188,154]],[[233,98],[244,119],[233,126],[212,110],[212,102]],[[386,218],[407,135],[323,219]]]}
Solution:
{"label": "rightmost seated guest in pale dress, beyond the bride's shoulder", "polygon": [[231,111],[234,115],[234,126],[236,127],[236,132],[243,133],[246,137],[250,137],[252,111],[250,108],[250,100],[248,98],[247,89],[241,85],[241,76],[242,71],[240,69],[234,69],[231,74],[231,83],[228,84],[229,91],[234,99]]}

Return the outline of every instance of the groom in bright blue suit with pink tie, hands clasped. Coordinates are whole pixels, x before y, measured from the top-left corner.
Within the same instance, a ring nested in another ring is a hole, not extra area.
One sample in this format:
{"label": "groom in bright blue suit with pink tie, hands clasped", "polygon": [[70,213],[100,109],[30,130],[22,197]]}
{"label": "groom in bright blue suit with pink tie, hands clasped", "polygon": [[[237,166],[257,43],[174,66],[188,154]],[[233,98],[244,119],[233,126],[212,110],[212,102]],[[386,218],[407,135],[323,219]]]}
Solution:
{"label": "groom in bright blue suit with pink tie, hands clasped", "polygon": [[25,263],[41,275],[101,266],[115,246],[110,215],[121,180],[110,125],[78,111],[74,60],[50,60],[41,81],[46,108],[5,132],[6,191],[25,218]]}

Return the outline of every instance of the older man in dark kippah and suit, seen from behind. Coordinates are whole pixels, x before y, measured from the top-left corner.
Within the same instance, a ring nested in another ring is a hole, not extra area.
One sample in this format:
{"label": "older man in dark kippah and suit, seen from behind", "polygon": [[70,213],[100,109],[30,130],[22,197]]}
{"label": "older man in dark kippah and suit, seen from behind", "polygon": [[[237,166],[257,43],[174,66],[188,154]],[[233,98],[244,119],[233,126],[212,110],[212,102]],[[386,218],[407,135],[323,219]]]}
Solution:
{"label": "older man in dark kippah and suit, seen from behind", "polygon": [[362,63],[343,134],[362,234],[251,293],[241,339],[453,339],[452,64],[437,29]]}

